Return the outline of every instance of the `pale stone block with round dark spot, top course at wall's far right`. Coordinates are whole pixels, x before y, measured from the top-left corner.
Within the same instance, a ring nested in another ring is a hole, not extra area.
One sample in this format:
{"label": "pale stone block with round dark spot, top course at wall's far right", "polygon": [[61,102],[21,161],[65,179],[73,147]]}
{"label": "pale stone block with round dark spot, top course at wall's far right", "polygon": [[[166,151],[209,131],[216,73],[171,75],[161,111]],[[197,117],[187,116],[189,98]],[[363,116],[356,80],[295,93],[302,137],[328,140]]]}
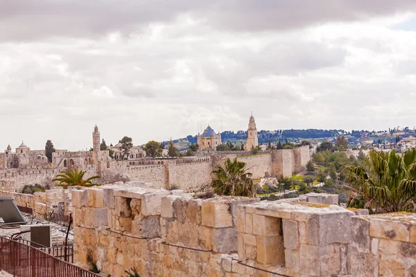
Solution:
{"label": "pale stone block with round dark spot, top course at wall's far right", "polygon": [[410,226],[405,222],[389,221],[380,218],[370,218],[370,235],[374,238],[385,238],[408,242]]}

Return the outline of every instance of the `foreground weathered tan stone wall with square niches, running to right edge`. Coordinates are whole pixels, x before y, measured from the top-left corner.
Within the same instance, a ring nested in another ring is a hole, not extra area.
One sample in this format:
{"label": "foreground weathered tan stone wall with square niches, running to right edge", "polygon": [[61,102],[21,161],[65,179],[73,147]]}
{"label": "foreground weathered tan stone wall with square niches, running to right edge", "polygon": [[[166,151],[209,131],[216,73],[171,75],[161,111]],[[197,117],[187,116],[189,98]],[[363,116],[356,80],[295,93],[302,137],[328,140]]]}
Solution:
{"label": "foreground weathered tan stone wall with square niches, running to right edge", "polygon": [[[329,201],[333,201],[331,197]],[[415,276],[416,215],[330,204],[73,190],[75,260],[121,276]]]}

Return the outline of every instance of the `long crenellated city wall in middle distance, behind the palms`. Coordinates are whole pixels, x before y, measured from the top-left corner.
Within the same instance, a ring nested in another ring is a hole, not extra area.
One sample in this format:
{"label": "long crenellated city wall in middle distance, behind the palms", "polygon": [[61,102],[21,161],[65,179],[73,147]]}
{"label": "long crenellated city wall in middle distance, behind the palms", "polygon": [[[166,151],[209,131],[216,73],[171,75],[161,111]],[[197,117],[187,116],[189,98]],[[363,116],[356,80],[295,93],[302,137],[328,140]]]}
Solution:
{"label": "long crenellated city wall in middle distance, behind the palms", "polygon": [[[66,168],[86,171],[85,177],[94,175],[121,175],[130,181],[143,181],[153,188],[180,188],[193,191],[209,186],[211,171],[226,159],[235,159],[247,164],[252,178],[266,175],[291,177],[309,161],[309,148],[304,146],[291,150],[268,150],[259,154],[250,152],[209,152],[209,156],[182,159],[138,159],[115,161],[105,157],[107,151],[58,152],[53,153],[56,168],[35,166],[29,169],[9,168],[0,170],[0,189],[21,192],[25,185],[51,185],[51,180]],[[73,163],[73,164],[72,164]]]}

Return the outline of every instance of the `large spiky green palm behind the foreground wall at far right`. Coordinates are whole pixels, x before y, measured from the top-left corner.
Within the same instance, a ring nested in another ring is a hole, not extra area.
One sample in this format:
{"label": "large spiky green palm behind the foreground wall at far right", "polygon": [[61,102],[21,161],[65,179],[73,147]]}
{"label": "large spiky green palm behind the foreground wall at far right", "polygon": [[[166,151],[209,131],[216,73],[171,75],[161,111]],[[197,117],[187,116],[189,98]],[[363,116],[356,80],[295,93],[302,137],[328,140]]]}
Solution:
{"label": "large spiky green palm behind the foreground wall at far right", "polygon": [[367,208],[370,213],[416,211],[416,149],[372,150],[363,166],[347,166],[352,194],[347,206]]}

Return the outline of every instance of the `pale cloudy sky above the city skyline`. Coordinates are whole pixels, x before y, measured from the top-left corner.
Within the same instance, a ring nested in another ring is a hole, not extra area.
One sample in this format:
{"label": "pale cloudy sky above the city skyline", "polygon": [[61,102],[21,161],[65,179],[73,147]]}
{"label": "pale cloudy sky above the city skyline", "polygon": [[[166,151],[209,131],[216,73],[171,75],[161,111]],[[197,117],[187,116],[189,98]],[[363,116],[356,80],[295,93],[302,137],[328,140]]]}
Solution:
{"label": "pale cloudy sky above the city skyline", "polygon": [[2,0],[0,149],[413,128],[415,32],[414,0]]}

